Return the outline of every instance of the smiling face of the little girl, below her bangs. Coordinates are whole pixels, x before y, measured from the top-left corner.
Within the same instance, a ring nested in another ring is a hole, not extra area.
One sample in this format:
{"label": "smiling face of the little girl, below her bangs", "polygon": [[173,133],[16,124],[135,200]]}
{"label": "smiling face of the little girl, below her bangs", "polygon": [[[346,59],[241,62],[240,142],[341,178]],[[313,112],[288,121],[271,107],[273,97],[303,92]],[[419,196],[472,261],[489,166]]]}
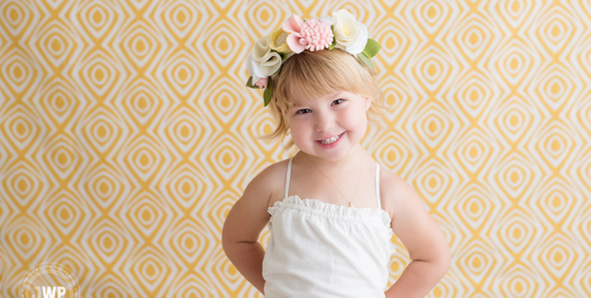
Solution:
{"label": "smiling face of the little girl, below her bangs", "polygon": [[[308,154],[332,161],[343,159],[366,135],[366,105],[370,103],[369,98],[339,91],[292,106],[288,111],[288,123],[293,142]],[[320,142],[339,135],[331,145]]]}

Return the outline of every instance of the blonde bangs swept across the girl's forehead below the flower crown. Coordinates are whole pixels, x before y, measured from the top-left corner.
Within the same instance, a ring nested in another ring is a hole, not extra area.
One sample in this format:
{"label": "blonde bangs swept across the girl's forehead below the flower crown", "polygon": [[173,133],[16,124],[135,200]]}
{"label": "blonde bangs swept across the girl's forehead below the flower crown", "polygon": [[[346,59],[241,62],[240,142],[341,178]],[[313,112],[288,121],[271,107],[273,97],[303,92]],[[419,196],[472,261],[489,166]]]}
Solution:
{"label": "blonde bangs swept across the girl's forehead below the flower crown", "polygon": [[338,91],[371,94],[355,57],[340,49],[302,51],[281,67],[274,92],[287,105],[302,105]]}

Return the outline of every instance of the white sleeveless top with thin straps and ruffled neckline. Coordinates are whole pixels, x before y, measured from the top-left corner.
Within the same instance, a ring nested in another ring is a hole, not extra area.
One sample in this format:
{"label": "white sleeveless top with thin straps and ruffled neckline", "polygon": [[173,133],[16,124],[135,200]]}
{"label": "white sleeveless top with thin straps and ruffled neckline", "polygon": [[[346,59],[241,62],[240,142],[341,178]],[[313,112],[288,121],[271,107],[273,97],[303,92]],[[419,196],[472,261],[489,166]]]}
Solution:
{"label": "white sleeveless top with thin straps and ruffled neckline", "polygon": [[356,208],[288,196],[291,161],[285,198],[268,208],[265,297],[385,297],[395,248],[390,216],[380,202],[380,208]]}

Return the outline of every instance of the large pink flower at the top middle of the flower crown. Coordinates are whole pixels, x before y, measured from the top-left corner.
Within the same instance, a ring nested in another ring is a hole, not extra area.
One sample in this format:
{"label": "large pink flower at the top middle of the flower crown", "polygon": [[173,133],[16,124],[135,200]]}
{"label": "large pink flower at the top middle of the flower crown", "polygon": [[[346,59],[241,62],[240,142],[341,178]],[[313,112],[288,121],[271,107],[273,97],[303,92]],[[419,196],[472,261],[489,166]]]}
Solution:
{"label": "large pink flower at the top middle of the flower crown", "polygon": [[333,43],[334,35],[328,24],[314,19],[303,22],[296,13],[283,22],[282,28],[290,33],[287,43],[293,53],[321,50]]}

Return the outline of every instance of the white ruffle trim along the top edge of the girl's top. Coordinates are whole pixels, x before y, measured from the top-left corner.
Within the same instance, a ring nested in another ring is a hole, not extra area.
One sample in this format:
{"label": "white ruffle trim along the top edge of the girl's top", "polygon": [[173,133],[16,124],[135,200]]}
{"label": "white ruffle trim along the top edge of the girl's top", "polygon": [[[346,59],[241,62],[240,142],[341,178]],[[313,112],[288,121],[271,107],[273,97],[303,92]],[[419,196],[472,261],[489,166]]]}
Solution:
{"label": "white ruffle trim along the top edge of the girl's top", "polygon": [[392,228],[390,227],[390,215],[383,210],[378,208],[357,208],[357,207],[348,207],[348,206],[340,206],[329,203],[324,203],[321,200],[317,200],[315,198],[300,198],[298,195],[292,195],[283,198],[283,200],[275,202],[275,204],[267,209],[267,213],[269,213],[271,216],[274,216],[279,209],[292,207],[296,209],[300,209],[306,213],[311,213],[314,215],[325,216],[325,217],[332,217],[332,218],[340,218],[340,219],[349,219],[349,220],[356,220],[356,221],[364,221],[364,220],[382,220],[384,226],[386,226],[390,230],[389,232],[393,234]]}

